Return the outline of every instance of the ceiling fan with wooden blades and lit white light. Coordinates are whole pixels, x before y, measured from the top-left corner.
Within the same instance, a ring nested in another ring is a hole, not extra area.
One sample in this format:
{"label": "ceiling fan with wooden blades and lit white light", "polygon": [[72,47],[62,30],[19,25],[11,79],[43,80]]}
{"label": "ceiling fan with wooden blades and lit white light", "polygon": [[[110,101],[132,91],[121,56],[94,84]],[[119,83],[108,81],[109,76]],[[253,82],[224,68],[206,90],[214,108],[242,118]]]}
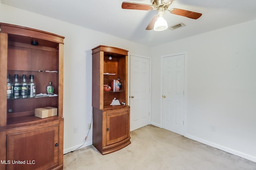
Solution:
{"label": "ceiling fan with wooden blades and lit white light", "polygon": [[123,2],[122,9],[146,11],[157,10],[158,14],[152,18],[152,20],[146,27],[146,30],[151,30],[154,28],[155,31],[163,31],[167,29],[168,24],[166,20],[164,20],[163,18],[163,15],[165,14],[166,11],[170,12],[171,14],[192,18],[194,20],[202,16],[202,14],[200,13],[182,10],[178,8],[172,8],[169,10],[168,8],[170,4],[172,4],[172,1],[173,0],[152,0],[152,5],[134,2]]}

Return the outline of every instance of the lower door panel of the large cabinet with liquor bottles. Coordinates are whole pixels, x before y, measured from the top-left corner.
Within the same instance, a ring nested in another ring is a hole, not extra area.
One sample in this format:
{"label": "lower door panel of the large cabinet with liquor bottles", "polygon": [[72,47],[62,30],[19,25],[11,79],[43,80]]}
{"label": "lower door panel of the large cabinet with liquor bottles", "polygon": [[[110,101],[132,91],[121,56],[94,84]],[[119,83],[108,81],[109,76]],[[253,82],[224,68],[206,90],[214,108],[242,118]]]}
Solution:
{"label": "lower door panel of the large cabinet with liquor bottles", "polygon": [[56,125],[7,135],[6,169],[41,170],[57,165],[58,132]]}

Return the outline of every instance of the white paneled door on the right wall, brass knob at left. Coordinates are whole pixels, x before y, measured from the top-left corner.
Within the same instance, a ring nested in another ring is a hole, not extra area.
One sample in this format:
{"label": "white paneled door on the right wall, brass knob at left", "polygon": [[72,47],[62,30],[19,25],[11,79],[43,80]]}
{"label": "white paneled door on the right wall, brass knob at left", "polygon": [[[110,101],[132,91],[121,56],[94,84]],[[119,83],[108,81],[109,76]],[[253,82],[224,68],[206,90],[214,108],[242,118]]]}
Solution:
{"label": "white paneled door on the right wall, brass knob at left", "polygon": [[163,58],[163,128],[184,135],[184,54]]}

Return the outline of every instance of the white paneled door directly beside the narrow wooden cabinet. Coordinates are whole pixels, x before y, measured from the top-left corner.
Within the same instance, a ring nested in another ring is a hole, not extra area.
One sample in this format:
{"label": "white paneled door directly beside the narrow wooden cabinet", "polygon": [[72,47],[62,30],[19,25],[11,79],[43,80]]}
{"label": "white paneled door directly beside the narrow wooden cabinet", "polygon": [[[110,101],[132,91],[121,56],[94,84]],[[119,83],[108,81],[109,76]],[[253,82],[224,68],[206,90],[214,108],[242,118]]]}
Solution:
{"label": "white paneled door directly beside the narrow wooden cabinet", "polygon": [[150,59],[130,56],[130,130],[149,124]]}

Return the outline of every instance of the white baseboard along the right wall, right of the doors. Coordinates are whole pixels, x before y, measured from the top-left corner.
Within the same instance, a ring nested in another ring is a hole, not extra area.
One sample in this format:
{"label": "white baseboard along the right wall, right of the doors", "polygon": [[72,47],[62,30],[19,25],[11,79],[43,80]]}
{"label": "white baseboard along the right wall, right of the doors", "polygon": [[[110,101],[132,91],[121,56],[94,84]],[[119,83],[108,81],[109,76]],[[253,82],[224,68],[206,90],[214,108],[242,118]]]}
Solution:
{"label": "white baseboard along the right wall, right of the doors", "polygon": [[217,149],[220,149],[220,150],[223,150],[225,152],[228,152],[228,153],[231,153],[231,154],[234,154],[236,156],[240,156],[242,158],[245,158],[245,159],[248,159],[248,160],[251,160],[253,162],[256,162],[256,157],[255,156],[252,156],[252,155],[249,155],[249,154],[246,154],[246,153],[243,153],[243,152],[239,152],[237,150],[234,150],[234,149],[230,149],[228,147],[224,147],[222,145],[218,145],[216,143],[212,143],[210,141],[206,141],[204,139],[201,139],[201,138],[198,138],[198,137],[195,137],[195,136],[192,136],[192,135],[189,135],[189,134],[185,134],[184,135],[185,137],[189,138],[189,139],[193,139],[195,141],[198,141],[200,143],[204,143],[206,145],[209,145],[211,147],[214,147],[214,148],[217,148]]}

